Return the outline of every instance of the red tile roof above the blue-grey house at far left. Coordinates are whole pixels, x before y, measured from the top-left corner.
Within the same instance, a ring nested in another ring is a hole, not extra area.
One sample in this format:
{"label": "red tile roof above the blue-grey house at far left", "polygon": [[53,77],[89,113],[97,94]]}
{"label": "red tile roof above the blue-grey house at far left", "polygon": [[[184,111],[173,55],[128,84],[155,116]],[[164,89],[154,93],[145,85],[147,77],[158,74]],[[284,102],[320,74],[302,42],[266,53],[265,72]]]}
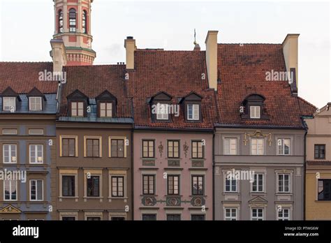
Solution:
{"label": "red tile roof above the blue-grey house at far left", "polygon": [[52,62],[0,62],[0,93],[7,87],[17,94],[27,94],[34,87],[43,94],[57,93],[58,82],[39,80],[45,70],[53,71]]}

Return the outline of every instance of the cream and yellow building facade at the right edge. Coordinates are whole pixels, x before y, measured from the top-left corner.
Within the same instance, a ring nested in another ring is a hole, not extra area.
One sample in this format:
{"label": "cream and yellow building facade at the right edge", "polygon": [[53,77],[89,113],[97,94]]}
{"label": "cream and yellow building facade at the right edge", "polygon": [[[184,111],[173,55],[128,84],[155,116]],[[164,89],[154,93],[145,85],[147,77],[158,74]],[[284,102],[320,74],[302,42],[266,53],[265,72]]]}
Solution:
{"label": "cream and yellow building facade at the right edge", "polygon": [[331,220],[331,103],[305,119],[306,219]]}

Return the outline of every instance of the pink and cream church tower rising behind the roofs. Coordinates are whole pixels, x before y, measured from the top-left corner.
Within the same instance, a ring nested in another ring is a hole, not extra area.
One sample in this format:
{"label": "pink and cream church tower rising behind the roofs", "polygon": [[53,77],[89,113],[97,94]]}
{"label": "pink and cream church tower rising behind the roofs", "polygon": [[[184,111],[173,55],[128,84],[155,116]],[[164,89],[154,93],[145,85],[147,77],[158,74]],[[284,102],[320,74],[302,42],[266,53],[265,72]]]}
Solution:
{"label": "pink and cream church tower rising behind the roofs", "polygon": [[92,65],[91,3],[93,0],[53,0],[55,12],[54,39],[66,47],[67,66]]}

